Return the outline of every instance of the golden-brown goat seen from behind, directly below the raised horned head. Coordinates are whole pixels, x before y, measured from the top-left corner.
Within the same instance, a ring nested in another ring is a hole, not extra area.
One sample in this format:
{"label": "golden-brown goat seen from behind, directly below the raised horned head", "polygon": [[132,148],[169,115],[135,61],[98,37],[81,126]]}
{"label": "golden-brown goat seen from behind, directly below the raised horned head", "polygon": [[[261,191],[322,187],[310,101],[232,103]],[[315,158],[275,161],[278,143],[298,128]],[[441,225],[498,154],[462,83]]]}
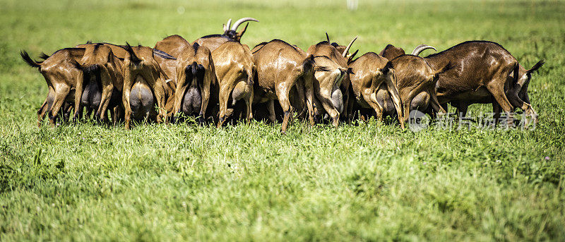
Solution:
{"label": "golden-brown goat seen from behind, directly below the raised horned head", "polygon": [[214,67],[220,91],[218,101],[220,112],[218,128],[223,125],[228,114],[227,103],[232,105],[242,99],[246,104],[246,119],[253,119],[251,104],[253,103],[254,61],[249,47],[239,42],[225,42],[212,52]]}

